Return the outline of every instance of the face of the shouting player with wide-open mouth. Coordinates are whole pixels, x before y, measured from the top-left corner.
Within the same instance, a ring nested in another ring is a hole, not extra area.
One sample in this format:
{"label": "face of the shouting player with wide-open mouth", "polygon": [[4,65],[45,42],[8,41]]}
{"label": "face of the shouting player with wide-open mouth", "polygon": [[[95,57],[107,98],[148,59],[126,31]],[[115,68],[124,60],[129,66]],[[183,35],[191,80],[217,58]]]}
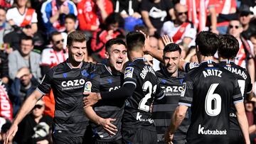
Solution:
{"label": "face of the shouting player with wide-open mouth", "polygon": [[109,52],[106,52],[106,58],[110,61],[110,67],[121,71],[124,62],[126,62],[127,49],[122,44],[114,44],[111,46]]}

